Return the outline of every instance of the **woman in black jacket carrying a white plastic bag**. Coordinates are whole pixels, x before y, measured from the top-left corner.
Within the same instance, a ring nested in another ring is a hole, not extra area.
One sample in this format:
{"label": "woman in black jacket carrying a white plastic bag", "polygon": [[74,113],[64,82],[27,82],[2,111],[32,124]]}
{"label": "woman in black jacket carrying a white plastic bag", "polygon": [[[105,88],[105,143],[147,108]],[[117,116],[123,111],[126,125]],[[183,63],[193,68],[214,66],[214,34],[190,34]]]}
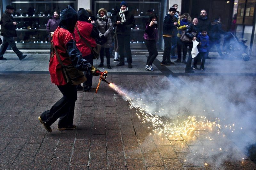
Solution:
{"label": "woman in black jacket carrying a white plastic bag", "polygon": [[[189,24],[186,29],[185,35],[189,39],[196,40],[196,36],[199,33],[197,23],[198,23],[198,19],[194,18],[192,21],[192,24]],[[187,43],[187,45],[188,45],[188,61],[187,61],[187,65],[185,68],[185,73],[194,73],[193,68],[191,67],[191,61],[192,61],[191,51],[192,51],[193,43],[189,42],[189,43]]]}

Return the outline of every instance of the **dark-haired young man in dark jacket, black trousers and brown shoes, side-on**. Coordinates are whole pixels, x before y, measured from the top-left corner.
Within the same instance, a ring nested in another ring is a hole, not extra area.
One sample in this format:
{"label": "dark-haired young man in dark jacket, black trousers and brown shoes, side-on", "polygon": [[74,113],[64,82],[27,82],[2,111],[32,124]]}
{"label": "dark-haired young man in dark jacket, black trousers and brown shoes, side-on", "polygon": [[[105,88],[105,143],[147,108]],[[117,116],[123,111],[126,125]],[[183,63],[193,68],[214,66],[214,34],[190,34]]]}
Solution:
{"label": "dark-haired young man in dark jacket, black trousers and brown shoes, side-on", "polygon": [[173,16],[176,13],[175,8],[170,8],[169,13],[164,17],[164,26],[163,26],[163,38],[164,38],[164,55],[161,62],[161,66],[170,66],[174,62],[170,59],[171,52],[171,42],[173,37],[173,30],[176,29],[177,22],[173,22]]}

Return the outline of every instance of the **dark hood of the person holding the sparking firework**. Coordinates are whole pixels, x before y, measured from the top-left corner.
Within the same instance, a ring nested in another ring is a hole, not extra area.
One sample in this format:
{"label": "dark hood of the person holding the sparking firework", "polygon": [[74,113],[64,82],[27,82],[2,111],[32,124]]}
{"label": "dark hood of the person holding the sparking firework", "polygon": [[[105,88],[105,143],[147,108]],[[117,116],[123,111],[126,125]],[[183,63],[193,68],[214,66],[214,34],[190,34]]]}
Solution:
{"label": "dark hood of the person holding the sparking firework", "polygon": [[60,16],[60,24],[61,28],[67,29],[69,32],[74,32],[74,28],[77,22],[77,13],[76,11],[68,5],[68,7],[63,10]]}

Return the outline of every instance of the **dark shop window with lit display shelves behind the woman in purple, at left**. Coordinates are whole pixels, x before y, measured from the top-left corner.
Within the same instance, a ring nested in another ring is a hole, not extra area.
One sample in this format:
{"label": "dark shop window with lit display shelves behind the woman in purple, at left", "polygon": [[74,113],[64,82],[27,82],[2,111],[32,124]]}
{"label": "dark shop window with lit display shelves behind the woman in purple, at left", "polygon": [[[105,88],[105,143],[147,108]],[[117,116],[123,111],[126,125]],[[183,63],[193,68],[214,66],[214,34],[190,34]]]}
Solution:
{"label": "dark shop window with lit display shelves behind the woman in purple, at left", "polygon": [[49,48],[50,39],[46,32],[48,20],[54,10],[65,9],[68,5],[76,8],[76,1],[13,1],[13,18],[18,23],[15,37],[18,48]]}

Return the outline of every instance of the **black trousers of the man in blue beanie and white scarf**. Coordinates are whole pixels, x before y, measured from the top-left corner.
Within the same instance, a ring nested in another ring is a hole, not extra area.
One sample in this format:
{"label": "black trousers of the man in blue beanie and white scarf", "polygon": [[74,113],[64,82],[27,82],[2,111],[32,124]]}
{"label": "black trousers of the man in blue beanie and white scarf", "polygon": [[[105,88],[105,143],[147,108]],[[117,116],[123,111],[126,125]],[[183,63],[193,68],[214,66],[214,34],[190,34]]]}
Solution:
{"label": "black trousers of the man in blue beanie and white scarf", "polygon": [[132,63],[132,52],[130,48],[130,35],[117,34],[118,51],[120,62],[124,63],[124,50],[126,51],[127,63]]}

